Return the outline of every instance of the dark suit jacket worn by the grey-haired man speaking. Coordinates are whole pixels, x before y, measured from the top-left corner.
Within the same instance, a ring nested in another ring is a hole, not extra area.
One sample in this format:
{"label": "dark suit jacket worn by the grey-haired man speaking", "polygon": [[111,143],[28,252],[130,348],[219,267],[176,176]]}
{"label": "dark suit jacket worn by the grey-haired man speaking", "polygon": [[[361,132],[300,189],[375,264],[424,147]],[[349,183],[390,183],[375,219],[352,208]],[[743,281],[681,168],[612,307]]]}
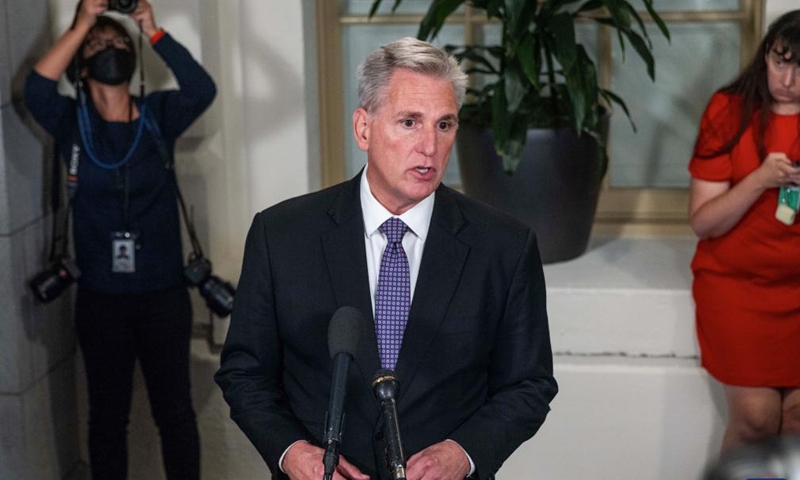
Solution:
{"label": "dark suit jacket worn by the grey-haired man speaking", "polygon": [[[360,178],[264,210],[247,237],[215,379],[276,478],[285,478],[278,460],[291,443],[322,445],[333,376],[328,324],[342,306],[366,322],[340,453],[372,478],[388,475],[370,390],[380,362]],[[439,187],[395,371],[409,457],[452,439],[474,461],[475,478],[487,478],[536,433],[557,387],[530,228]]]}

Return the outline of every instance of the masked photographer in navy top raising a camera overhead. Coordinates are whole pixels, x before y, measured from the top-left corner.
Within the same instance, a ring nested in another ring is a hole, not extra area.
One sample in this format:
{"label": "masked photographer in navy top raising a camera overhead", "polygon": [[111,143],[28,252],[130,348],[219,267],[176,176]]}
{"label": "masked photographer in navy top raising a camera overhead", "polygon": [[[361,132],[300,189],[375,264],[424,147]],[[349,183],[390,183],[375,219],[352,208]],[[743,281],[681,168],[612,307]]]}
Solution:
{"label": "masked photographer in navy top raising a camera overhead", "polygon": [[[136,21],[174,73],[179,90],[143,98],[130,94],[134,39],[102,15],[110,8]],[[77,98],[57,91],[68,69],[74,69]],[[80,2],[72,26],[25,85],[28,109],[76,167],[70,172],[71,213],[82,275],[75,323],[86,366],[95,479],[127,475],[126,430],[137,359],[167,478],[200,477],[189,377],[192,313],[171,157],[176,138],[215,94],[206,71],[156,26],[147,0]]]}

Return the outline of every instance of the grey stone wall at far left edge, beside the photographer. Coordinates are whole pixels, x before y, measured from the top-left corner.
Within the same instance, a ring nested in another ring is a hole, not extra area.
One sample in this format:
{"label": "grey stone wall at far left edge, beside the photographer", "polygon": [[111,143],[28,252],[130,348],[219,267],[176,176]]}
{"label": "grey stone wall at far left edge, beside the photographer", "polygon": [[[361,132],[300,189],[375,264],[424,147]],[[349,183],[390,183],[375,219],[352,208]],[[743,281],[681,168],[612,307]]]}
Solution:
{"label": "grey stone wall at far left edge, beside the photographer", "polygon": [[0,475],[51,480],[80,458],[69,295],[43,306],[26,284],[44,267],[51,222],[45,137],[21,105],[49,42],[46,2],[4,0],[0,25]]}

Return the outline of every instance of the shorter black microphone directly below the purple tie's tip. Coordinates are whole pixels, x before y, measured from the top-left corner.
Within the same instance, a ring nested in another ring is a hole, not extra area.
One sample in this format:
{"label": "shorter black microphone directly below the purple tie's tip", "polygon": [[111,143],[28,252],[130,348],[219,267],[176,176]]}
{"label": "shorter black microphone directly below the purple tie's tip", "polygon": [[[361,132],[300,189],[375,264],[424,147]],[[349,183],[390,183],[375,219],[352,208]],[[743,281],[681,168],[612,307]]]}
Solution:
{"label": "shorter black microphone directly below the purple tie's tip", "polygon": [[406,480],[406,453],[400,440],[400,422],[397,417],[397,392],[400,381],[393,370],[378,370],[372,380],[372,393],[381,402],[386,438],[386,464],[393,480]]}

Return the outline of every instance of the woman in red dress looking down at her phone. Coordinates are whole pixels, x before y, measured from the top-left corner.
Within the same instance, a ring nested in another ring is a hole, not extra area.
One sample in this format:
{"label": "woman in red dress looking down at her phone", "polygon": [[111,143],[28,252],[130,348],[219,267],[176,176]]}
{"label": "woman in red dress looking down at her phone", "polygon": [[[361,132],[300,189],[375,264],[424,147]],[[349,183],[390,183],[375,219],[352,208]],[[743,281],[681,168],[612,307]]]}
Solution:
{"label": "woman in red dress looking down at her phone", "polygon": [[711,98],[689,164],[697,336],[725,386],[723,451],[800,433],[800,221],[776,217],[782,187],[800,184],[798,160],[795,10]]}

